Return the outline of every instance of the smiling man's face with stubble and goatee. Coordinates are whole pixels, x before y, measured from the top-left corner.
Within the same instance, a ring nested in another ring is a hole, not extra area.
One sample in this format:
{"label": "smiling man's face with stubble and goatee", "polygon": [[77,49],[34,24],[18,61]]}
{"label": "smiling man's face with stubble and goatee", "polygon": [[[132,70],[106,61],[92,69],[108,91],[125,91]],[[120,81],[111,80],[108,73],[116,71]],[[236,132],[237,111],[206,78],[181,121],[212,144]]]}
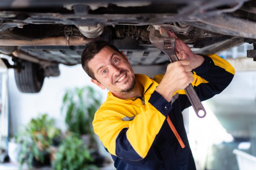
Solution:
{"label": "smiling man's face with stubble and goatee", "polygon": [[88,62],[97,79],[91,81],[117,96],[127,94],[135,86],[133,69],[123,51],[121,53],[106,46]]}

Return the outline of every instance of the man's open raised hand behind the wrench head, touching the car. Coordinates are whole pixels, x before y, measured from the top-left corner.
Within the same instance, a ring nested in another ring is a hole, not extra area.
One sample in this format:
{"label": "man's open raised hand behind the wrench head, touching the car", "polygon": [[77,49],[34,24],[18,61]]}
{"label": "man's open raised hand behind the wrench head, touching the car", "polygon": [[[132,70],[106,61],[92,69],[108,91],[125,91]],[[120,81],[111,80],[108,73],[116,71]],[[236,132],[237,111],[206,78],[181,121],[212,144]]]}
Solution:
{"label": "man's open raised hand behind the wrench head, touching the car", "polygon": [[176,37],[175,41],[175,52],[180,60],[189,60],[192,69],[199,67],[204,62],[204,57],[198,54],[194,54],[189,46],[178,39],[178,37],[172,32],[169,34],[170,37]]}

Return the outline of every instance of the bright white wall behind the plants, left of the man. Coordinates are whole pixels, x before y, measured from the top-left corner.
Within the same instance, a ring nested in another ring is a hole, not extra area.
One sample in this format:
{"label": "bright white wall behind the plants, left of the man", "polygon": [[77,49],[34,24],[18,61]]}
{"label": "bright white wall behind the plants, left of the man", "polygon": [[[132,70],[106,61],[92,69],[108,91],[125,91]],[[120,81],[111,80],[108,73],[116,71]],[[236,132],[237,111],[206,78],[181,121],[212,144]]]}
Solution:
{"label": "bright white wall behind the plants, left of the man", "polygon": [[31,118],[40,114],[48,113],[50,118],[55,118],[56,126],[63,131],[66,129],[65,114],[60,113],[62,98],[68,88],[91,85],[102,92],[105,100],[107,91],[91,83],[89,76],[84,72],[81,65],[66,66],[60,65],[60,76],[46,77],[42,90],[36,94],[26,94],[18,91],[14,70],[8,71],[8,87],[10,99],[10,132],[15,134],[28,124]]}

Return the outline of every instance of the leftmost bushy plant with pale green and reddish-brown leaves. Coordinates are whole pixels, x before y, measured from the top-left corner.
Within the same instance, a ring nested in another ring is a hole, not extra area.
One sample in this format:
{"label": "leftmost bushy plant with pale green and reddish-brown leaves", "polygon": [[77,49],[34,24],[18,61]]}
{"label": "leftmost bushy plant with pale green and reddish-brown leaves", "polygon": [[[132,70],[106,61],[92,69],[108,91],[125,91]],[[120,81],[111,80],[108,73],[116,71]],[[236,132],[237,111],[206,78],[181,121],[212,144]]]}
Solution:
{"label": "leftmost bushy plant with pale green and reddish-brown leaves", "polygon": [[53,139],[60,135],[60,129],[54,127],[54,120],[48,119],[46,114],[32,119],[25,132],[17,138],[21,144],[19,153],[21,167],[24,162],[27,162],[29,168],[50,165],[49,148]]}

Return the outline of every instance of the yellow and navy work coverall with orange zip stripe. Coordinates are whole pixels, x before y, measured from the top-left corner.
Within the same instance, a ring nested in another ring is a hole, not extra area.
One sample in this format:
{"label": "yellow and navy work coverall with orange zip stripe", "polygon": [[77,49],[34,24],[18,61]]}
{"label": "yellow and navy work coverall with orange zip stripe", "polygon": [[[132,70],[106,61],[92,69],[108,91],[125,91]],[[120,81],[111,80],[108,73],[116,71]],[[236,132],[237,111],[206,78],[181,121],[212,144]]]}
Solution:
{"label": "yellow and navy work coverall with orange zip stripe", "polygon": [[[218,55],[203,57],[202,65],[192,70],[192,85],[201,101],[222,92],[235,74]],[[94,131],[117,170],[196,169],[181,113],[191,104],[184,90],[176,91],[170,103],[156,92],[163,76],[135,74],[144,87],[141,97],[122,100],[108,92],[95,113]]]}

